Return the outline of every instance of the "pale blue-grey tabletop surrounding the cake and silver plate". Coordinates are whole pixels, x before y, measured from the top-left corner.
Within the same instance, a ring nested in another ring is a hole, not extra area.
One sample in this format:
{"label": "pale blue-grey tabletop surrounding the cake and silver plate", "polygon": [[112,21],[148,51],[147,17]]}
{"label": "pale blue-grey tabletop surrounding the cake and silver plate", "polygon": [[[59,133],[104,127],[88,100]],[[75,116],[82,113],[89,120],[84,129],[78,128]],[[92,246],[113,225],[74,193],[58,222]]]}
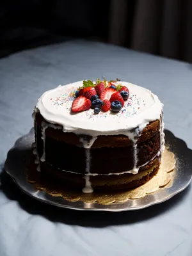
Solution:
{"label": "pale blue-grey tabletop surrounding the cake and silver plate", "polygon": [[166,129],[192,148],[192,67],[114,45],[68,40],[0,60],[0,255],[192,255],[191,186],[131,212],[79,212],[42,204],[4,172],[15,141],[33,126],[36,100],[59,84],[120,78],[164,103]]}

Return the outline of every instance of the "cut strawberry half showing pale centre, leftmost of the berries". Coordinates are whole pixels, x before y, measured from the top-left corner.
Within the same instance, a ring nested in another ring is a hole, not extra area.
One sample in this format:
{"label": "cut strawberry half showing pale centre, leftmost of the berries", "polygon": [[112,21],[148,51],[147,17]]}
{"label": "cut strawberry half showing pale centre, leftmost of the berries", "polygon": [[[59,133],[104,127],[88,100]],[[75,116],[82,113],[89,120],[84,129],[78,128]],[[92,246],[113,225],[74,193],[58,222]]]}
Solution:
{"label": "cut strawberry half showing pale centre, leftmost of the berries", "polygon": [[72,103],[72,112],[80,112],[90,109],[92,102],[89,99],[86,99],[84,96],[77,97]]}

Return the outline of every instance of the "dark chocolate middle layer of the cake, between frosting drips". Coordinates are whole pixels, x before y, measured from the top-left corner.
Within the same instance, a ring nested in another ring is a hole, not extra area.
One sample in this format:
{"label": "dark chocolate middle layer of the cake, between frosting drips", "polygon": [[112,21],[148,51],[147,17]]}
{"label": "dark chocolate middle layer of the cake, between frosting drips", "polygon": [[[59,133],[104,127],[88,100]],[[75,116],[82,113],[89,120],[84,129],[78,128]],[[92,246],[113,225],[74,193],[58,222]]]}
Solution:
{"label": "dark chocolate middle layer of the cake, between frosting drips", "polygon": [[[129,143],[127,147],[122,148],[102,147],[85,149],[65,143],[64,141],[55,140],[47,136],[46,131],[45,161],[56,168],[84,174],[86,172],[86,150],[89,150],[90,153],[90,173],[119,173],[134,168],[134,150]],[[38,154],[41,157],[44,151],[44,141],[42,140],[42,131],[38,126],[36,127],[36,136]],[[146,164],[157,155],[159,150],[159,132],[152,136],[152,138],[138,143],[136,167]]]}

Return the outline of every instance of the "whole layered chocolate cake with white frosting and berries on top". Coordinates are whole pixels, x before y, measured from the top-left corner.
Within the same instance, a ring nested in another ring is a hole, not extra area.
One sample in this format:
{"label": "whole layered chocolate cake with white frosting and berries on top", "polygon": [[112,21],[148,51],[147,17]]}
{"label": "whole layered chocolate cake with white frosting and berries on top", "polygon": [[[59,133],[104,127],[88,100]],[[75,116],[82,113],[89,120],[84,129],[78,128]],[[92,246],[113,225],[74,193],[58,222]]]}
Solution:
{"label": "whole layered chocolate cake with white frosting and berries on top", "polygon": [[38,99],[33,118],[36,170],[54,184],[122,191],[159,170],[163,104],[143,87],[99,79],[58,86]]}

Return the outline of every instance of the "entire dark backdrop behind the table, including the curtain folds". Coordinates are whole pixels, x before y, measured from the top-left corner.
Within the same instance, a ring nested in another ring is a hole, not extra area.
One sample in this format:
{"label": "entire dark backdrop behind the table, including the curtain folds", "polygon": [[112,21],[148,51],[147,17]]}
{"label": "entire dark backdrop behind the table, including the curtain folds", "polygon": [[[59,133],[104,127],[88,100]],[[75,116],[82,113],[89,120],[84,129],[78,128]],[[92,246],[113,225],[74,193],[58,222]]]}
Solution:
{"label": "entire dark backdrop behind the table, including the curtain folds", "polygon": [[0,22],[0,57],[80,37],[192,62],[192,0],[7,0]]}

